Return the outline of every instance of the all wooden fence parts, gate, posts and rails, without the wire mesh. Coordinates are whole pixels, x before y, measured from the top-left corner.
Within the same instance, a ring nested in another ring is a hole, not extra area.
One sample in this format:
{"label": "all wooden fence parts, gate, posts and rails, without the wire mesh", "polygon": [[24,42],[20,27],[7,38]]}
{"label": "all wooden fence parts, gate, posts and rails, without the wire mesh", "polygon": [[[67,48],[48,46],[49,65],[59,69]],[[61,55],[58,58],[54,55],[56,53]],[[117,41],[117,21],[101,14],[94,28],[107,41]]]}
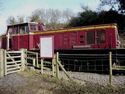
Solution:
{"label": "all wooden fence parts, gate, posts and rails, without the wire mesh", "polygon": [[[35,57],[28,57],[27,53],[34,54]],[[59,53],[57,52],[52,59],[52,62],[45,62],[44,59],[38,58],[39,54],[36,52],[27,51],[26,49],[20,49],[19,51],[6,51],[4,49],[0,49],[0,77],[4,75],[8,75],[10,73],[24,71],[25,65],[27,65],[27,59],[33,60],[32,65],[41,68],[41,74],[44,73],[45,69],[49,69],[44,67],[45,63],[51,64],[51,71],[54,77],[59,78],[59,67],[65,73],[65,75],[72,81],[70,76],[67,74],[63,65],[59,61]],[[40,61],[40,64],[39,64]],[[125,70],[125,66],[122,68],[114,67],[112,65],[112,52],[109,52],[109,83],[112,83],[112,71],[113,70]]]}

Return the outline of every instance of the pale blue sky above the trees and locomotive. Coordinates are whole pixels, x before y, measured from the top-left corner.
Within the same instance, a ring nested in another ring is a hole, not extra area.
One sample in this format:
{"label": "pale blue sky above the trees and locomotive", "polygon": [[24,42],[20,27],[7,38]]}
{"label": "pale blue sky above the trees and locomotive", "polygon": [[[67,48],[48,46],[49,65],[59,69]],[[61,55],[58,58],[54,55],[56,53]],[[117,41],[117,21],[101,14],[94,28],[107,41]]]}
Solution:
{"label": "pale blue sky above the trees and locomotive", "polygon": [[[89,6],[92,10],[96,10],[100,4],[100,0],[0,0],[2,9],[0,10],[0,34],[7,30],[6,20],[9,16],[17,17],[24,15],[25,18],[30,16],[33,10],[44,9],[71,9],[74,13],[83,11],[80,4]],[[25,20],[26,21],[26,20]]]}

